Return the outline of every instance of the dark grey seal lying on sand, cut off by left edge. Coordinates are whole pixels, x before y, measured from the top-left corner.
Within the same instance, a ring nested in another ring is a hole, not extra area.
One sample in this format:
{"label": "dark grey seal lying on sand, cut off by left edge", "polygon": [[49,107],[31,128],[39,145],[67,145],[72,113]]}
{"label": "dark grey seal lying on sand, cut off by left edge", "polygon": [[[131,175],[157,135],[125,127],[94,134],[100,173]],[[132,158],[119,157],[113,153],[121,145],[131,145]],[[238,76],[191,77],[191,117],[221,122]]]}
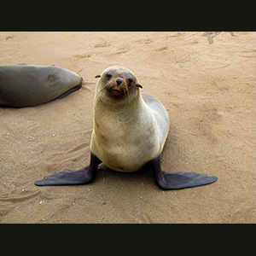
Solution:
{"label": "dark grey seal lying on sand, cut off by left edge", "polygon": [[29,107],[79,90],[82,78],[55,66],[0,66],[0,105]]}

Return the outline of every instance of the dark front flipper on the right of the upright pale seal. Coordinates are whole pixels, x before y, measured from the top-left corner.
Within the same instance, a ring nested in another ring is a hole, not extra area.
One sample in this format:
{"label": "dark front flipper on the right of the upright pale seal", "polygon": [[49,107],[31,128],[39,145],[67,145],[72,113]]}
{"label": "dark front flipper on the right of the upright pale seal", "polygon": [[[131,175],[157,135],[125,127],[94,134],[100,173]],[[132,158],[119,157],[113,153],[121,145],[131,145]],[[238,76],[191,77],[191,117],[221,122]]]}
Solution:
{"label": "dark front flipper on the right of the upright pale seal", "polygon": [[149,165],[153,168],[154,179],[160,189],[186,189],[207,185],[218,180],[218,177],[208,177],[206,173],[163,172],[160,167],[160,157],[151,160]]}

